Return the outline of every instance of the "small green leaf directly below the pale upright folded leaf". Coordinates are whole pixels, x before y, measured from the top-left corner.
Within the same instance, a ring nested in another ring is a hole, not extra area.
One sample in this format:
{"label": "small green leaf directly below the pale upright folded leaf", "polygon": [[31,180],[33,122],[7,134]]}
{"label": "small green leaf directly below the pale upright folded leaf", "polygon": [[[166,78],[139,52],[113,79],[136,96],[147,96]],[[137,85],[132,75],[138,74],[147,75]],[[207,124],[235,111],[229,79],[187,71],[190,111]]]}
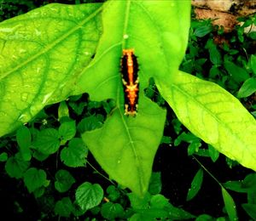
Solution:
{"label": "small green leaf directly below the pale upright folded leaf", "polygon": [[76,134],[76,122],[62,122],[59,127],[59,137],[64,140],[73,139]]}

